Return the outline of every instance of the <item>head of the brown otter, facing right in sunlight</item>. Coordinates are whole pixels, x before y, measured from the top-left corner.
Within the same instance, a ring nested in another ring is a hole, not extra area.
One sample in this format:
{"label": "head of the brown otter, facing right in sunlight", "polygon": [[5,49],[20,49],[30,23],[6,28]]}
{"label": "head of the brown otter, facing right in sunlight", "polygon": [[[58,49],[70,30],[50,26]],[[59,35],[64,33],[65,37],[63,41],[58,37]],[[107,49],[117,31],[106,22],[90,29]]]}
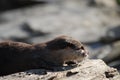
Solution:
{"label": "head of the brown otter, facing right in sunlight", "polygon": [[49,41],[47,48],[64,63],[80,62],[88,56],[83,44],[68,36],[60,36]]}

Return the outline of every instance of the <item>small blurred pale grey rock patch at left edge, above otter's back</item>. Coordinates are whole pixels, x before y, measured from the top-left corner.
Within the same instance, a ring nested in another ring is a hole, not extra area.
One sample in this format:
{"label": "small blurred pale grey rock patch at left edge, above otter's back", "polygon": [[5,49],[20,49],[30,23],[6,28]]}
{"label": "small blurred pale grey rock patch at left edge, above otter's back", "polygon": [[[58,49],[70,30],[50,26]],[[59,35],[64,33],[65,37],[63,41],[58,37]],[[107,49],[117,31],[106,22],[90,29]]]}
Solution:
{"label": "small blurred pale grey rock patch at left edge, above otter's back", "polygon": [[0,38],[10,39],[11,37],[24,38],[28,34],[21,30],[20,24],[3,24],[4,27],[0,27]]}

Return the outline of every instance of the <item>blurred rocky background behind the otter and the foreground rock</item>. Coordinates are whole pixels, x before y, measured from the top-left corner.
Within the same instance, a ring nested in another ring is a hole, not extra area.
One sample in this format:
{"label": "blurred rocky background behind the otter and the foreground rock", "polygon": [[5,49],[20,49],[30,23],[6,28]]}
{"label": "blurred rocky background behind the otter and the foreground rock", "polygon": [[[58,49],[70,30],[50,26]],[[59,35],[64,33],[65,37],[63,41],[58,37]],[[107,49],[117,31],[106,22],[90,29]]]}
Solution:
{"label": "blurred rocky background behind the otter and the foreground rock", "polygon": [[120,71],[120,0],[0,0],[0,41],[68,35]]}

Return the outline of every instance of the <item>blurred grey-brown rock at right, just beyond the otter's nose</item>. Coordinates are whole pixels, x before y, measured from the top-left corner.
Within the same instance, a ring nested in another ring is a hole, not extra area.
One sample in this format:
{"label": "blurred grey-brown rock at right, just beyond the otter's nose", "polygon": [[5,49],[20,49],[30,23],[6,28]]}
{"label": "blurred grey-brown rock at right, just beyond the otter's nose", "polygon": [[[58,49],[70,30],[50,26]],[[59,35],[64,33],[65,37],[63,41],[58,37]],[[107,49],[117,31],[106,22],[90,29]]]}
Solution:
{"label": "blurred grey-brown rock at right, just beyond the otter's nose", "polygon": [[97,58],[104,60],[109,66],[120,70],[120,41],[111,44],[103,45],[97,49],[89,49],[91,52],[90,58]]}

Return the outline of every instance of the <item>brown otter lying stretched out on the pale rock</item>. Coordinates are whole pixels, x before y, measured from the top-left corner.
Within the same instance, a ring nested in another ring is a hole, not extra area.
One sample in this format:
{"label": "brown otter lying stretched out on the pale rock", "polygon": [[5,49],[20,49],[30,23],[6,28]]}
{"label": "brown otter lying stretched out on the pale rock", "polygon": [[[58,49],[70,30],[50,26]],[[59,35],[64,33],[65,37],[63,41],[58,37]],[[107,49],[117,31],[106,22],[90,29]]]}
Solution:
{"label": "brown otter lying stretched out on the pale rock", "polygon": [[0,75],[79,63],[87,56],[83,44],[68,36],[38,44],[4,41],[0,42]]}

